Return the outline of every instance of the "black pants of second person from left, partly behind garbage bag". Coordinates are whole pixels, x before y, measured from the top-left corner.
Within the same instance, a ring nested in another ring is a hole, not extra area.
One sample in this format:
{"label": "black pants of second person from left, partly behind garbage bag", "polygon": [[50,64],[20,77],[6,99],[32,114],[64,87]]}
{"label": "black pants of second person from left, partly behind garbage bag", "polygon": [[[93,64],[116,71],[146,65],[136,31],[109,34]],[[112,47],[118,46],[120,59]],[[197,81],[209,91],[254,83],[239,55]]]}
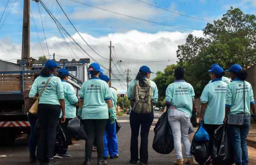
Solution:
{"label": "black pants of second person from left, partly behind garbage bag", "polygon": [[70,120],[72,120],[72,118],[66,118],[66,121],[63,122],[63,123],[61,123],[60,120],[59,120],[59,124],[61,125],[61,127],[64,131],[64,134],[66,136],[67,144],[65,146],[61,146],[61,147],[56,148],[56,153],[57,154],[66,154],[68,146],[71,143],[71,136],[70,136],[69,132],[67,131],[67,126],[68,126]]}

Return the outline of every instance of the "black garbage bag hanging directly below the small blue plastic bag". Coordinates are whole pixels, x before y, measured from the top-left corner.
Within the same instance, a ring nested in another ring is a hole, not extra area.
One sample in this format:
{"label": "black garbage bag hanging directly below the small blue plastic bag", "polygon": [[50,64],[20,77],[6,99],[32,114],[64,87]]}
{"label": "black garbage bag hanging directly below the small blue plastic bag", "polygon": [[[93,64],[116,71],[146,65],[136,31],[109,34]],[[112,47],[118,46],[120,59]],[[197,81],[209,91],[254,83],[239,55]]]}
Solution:
{"label": "black garbage bag hanging directly below the small blue plastic bag", "polygon": [[[197,129],[197,131],[198,130],[199,129]],[[210,157],[210,150],[211,149],[209,140],[205,142],[196,142],[195,139],[193,138],[190,153],[194,155],[197,163],[199,163],[200,165],[205,164],[206,160]]]}

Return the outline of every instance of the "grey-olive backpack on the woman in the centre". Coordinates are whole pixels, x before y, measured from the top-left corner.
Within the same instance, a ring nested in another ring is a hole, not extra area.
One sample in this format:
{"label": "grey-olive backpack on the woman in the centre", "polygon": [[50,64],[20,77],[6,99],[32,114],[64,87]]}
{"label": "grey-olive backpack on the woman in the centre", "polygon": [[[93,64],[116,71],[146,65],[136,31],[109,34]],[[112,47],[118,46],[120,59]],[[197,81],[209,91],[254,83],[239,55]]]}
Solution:
{"label": "grey-olive backpack on the woman in the centre", "polygon": [[148,114],[151,112],[152,88],[149,80],[144,80],[146,85],[141,87],[137,81],[131,95],[131,107],[133,112]]}

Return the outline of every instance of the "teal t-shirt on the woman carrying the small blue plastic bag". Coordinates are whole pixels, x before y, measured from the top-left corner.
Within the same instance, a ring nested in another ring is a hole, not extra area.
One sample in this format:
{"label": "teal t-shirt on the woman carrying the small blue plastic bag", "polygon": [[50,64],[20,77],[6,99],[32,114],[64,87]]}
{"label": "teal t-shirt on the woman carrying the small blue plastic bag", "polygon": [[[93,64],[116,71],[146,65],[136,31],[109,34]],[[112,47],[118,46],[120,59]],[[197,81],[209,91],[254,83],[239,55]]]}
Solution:
{"label": "teal t-shirt on the woman carrying the small blue plastic bag", "polygon": [[223,124],[225,117],[226,87],[227,83],[222,80],[214,81],[205,86],[200,97],[202,103],[207,103],[204,115],[205,124]]}

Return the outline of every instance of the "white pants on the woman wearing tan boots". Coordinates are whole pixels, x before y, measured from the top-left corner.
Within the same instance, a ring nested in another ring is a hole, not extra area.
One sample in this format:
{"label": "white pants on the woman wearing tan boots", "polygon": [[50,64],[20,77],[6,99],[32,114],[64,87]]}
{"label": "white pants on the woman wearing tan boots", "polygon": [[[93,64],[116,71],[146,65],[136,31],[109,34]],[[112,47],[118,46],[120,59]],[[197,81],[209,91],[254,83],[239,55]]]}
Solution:
{"label": "white pants on the woman wearing tan boots", "polygon": [[172,128],[176,158],[183,158],[181,140],[185,146],[187,158],[192,158],[193,156],[190,153],[191,144],[188,139],[188,132],[190,126],[189,115],[180,110],[177,110],[174,107],[171,107],[169,110],[168,120]]}

